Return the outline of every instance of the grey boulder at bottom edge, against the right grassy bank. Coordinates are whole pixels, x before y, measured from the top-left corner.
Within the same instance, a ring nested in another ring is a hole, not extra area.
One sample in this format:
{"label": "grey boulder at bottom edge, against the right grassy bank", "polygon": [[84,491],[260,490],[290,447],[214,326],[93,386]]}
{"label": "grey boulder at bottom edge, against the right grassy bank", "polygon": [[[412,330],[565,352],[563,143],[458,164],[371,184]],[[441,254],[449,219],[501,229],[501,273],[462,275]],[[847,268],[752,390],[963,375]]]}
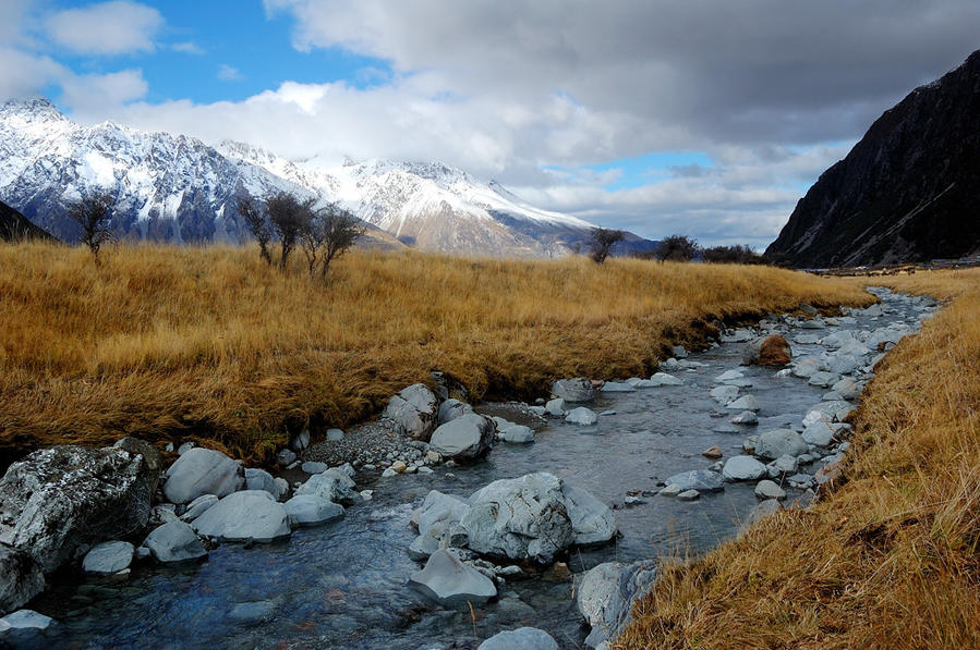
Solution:
{"label": "grey boulder at bottom edge, against the right grassy bank", "polygon": [[656,574],[651,562],[606,562],[585,572],[576,605],[592,627],[586,647],[596,648],[626,628],[633,603],[650,591]]}

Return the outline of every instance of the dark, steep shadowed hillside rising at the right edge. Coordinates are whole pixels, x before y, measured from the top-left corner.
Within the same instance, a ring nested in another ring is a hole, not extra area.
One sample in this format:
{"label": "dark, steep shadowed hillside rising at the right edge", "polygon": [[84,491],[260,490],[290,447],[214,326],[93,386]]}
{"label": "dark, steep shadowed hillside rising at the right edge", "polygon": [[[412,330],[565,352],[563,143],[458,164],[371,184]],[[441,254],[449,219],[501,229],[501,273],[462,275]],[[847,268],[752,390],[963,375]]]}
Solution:
{"label": "dark, steep shadowed hillside rising at the right edge", "polygon": [[795,267],[980,249],[980,51],[915,89],[800,199],[766,255]]}

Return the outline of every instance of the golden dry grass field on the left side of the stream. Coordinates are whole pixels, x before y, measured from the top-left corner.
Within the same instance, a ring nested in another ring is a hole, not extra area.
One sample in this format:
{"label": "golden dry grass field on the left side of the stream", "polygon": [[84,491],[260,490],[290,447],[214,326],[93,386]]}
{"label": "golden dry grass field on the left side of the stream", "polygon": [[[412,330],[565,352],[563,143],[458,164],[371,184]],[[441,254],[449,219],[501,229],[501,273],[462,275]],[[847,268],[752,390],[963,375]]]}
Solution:
{"label": "golden dry grass field on the left side of the stream", "polygon": [[[467,260],[354,252],[329,286],[256,250],[0,246],[0,454],[123,434],[259,462],[311,421],[344,426],[446,371],[476,397],[648,373],[706,323],[867,303],[776,269]],[[2,459],[2,458],[0,458]]]}

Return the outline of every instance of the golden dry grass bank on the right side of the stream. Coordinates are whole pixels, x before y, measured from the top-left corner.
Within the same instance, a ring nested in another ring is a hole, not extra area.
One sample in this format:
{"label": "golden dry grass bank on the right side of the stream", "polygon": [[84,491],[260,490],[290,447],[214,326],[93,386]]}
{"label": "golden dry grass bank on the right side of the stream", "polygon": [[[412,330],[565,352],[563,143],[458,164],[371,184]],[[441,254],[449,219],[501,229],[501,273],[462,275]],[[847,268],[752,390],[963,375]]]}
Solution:
{"label": "golden dry grass bank on the right side of the stream", "polygon": [[980,270],[879,366],[844,485],[665,572],[616,648],[980,647]]}

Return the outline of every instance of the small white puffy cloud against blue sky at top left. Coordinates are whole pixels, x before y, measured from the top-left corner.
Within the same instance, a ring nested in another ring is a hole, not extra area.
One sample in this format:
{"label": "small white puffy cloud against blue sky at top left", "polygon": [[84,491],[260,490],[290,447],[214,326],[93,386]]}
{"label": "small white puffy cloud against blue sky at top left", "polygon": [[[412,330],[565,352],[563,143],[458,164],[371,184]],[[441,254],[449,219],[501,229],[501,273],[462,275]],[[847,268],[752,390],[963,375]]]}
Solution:
{"label": "small white puffy cloud against blue sky at top left", "polygon": [[111,56],[153,50],[164,19],[152,7],[113,0],[60,11],[48,17],[46,26],[51,40],[68,50]]}

